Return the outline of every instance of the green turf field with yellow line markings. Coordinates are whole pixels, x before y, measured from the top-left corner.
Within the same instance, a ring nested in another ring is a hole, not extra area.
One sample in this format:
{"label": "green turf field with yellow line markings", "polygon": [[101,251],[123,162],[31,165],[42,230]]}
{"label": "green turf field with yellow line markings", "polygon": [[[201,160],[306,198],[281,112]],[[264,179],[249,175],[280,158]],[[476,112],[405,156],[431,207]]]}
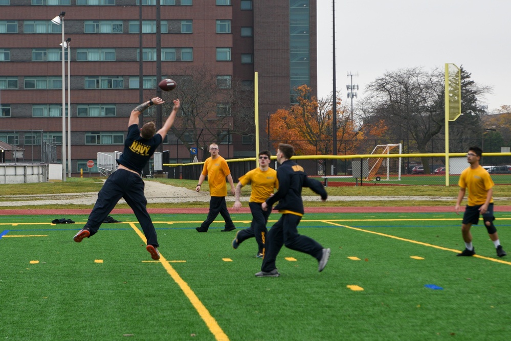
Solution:
{"label": "green turf field with yellow line markings", "polygon": [[[477,257],[454,213],[306,214],[299,232],[332,249],[323,272],[282,248],[278,278],[256,278],[255,240],[194,228],[205,215],[152,215],[162,259],[134,215],[82,243],[54,216],[0,216],[0,339],[445,340],[511,335],[511,254],[482,225]],[[270,219],[277,219],[277,213]],[[233,214],[238,228],[250,214]],[[511,251],[511,213],[497,213]]]}

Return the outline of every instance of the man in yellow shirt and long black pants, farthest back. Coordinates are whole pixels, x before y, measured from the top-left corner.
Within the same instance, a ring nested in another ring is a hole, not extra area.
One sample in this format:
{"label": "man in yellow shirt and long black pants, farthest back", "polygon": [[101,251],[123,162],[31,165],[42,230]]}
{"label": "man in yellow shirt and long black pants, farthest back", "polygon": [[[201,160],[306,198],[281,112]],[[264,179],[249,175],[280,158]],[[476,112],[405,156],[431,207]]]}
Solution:
{"label": "man in yellow shirt and long black pants, farthest back", "polygon": [[201,190],[201,185],[207,175],[209,193],[211,195],[211,199],[209,200],[209,213],[206,220],[204,220],[201,226],[195,228],[195,230],[197,230],[197,232],[208,232],[209,225],[211,225],[211,223],[215,220],[218,213],[221,214],[226,222],[225,229],[220,230],[221,232],[236,230],[231,216],[229,215],[229,211],[227,211],[226,203],[226,177],[231,185],[231,193],[234,195],[234,181],[232,180],[231,171],[225,158],[218,154],[218,145],[216,143],[212,143],[209,146],[209,152],[211,153],[211,156],[204,162],[204,168],[201,176],[199,176],[197,187],[195,188],[195,191],[197,192]]}

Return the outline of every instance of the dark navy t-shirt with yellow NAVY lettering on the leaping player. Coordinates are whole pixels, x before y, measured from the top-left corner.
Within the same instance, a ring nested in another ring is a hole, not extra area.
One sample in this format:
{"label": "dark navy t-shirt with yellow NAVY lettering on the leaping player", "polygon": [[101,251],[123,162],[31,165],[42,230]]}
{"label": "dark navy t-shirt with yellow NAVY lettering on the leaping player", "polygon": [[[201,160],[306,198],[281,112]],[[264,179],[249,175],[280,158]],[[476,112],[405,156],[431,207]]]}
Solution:
{"label": "dark navy t-shirt with yellow NAVY lettering on the leaping player", "polygon": [[138,124],[132,124],[128,127],[126,141],[124,141],[124,151],[117,163],[131,170],[142,174],[142,169],[149,161],[152,154],[162,143],[162,135],[155,134],[151,139],[146,140],[140,136]]}

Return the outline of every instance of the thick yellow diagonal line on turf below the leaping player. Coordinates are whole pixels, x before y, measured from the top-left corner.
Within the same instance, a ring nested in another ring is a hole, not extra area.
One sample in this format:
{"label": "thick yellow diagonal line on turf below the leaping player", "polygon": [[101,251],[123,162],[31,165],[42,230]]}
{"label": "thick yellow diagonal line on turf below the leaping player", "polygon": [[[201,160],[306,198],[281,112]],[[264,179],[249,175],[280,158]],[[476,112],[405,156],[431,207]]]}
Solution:
{"label": "thick yellow diagonal line on turf below the leaping player", "polygon": [[[144,234],[137,228],[135,223],[129,223],[131,228],[135,230],[135,232],[139,235],[139,237],[147,242]],[[211,333],[215,336],[218,341],[229,341],[229,337],[224,333],[224,331],[220,328],[216,320],[209,313],[208,309],[202,304],[201,300],[198,299],[197,295],[193,292],[193,290],[188,286],[188,284],[177,274],[177,271],[170,265],[170,263],[160,254],[160,262],[163,267],[167,270],[168,274],[177,285],[180,286],[181,290],[185,293],[186,297],[190,300],[191,304],[197,310],[198,314],[202,317],[204,322],[206,322],[206,326],[208,326]]]}

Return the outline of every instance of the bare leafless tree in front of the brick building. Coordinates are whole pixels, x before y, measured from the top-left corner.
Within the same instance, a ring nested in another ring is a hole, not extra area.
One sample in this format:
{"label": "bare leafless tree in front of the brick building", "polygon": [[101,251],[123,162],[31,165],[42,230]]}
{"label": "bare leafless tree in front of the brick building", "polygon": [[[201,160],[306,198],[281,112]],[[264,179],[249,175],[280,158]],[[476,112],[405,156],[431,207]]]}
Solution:
{"label": "bare leafless tree in front of the brick building", "polygon": [[[163,112],[170,112],[172,99],[181,100],[171,132],[187,148],[225,143],[231,134],[254,133],[253,92],[240,81],[216,75],[206,65],[187,67],[181,75],[167,77],[177,87],[162,94]],[[209,156],[207,148],[205,151]]]}

